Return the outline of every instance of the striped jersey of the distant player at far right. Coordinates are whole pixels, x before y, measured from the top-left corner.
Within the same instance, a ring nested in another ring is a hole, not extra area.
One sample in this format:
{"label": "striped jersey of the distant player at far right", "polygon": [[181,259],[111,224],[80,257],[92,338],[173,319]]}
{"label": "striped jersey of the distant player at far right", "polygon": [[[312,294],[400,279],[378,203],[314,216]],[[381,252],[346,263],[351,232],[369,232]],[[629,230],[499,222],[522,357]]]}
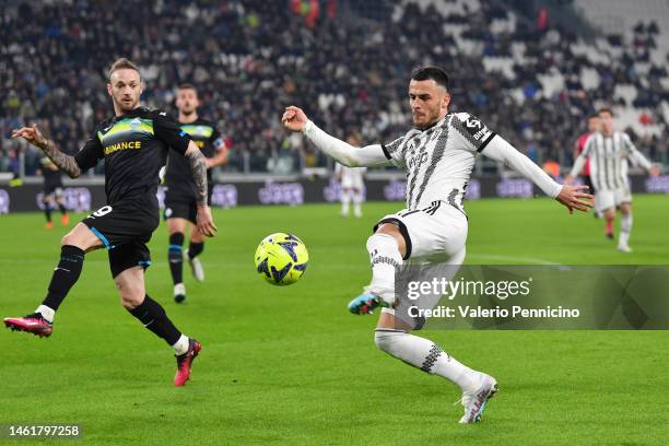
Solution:
{"label": "striped jersey of the distant player at far right", "polygon": [[650,168],[650,162],[623,131],[614,131],[608,137],[600,132],[592,133],[585,143],[582,156],[590,159],[590,179],[596,190],[629,189],[627,160],[646,169]]}

